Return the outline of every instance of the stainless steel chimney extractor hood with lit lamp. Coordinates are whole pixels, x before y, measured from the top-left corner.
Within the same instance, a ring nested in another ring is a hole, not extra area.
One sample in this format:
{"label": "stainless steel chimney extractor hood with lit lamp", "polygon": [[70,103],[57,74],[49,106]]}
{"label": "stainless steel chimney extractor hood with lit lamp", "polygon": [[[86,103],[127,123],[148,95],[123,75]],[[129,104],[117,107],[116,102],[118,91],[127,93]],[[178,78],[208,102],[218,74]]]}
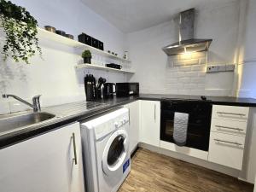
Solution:
{"label": "stainless steel chimney extractor hood with lit lamp", "polygon": [[179,15],[179,41],[163,48],[167,55],[206,51],[212,39],[194,38],[195,9],[185,10]]}

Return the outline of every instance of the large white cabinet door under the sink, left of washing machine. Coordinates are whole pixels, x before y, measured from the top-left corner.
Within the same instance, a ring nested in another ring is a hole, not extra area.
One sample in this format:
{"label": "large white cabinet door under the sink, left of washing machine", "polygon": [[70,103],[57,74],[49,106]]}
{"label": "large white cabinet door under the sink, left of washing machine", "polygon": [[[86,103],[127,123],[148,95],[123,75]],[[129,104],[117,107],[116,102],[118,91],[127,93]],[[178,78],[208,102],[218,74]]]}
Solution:
{"label": "large white cabinet door under the sink, left of washing machine", "polygon": [[0,191],[84,192],[82,162],[79,123],[61,127],[0,150]]}

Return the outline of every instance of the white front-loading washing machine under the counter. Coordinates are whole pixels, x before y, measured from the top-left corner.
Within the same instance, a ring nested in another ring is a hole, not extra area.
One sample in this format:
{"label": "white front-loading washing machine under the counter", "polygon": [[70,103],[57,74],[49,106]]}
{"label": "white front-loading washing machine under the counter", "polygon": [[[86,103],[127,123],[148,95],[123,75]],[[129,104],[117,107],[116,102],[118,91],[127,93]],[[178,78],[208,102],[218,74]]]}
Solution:
{"label": "white front-loading washing machine under the counter", "polygon": [[131,171],[129,112],[119,108],[81,124],[85,189],[116,192]]}

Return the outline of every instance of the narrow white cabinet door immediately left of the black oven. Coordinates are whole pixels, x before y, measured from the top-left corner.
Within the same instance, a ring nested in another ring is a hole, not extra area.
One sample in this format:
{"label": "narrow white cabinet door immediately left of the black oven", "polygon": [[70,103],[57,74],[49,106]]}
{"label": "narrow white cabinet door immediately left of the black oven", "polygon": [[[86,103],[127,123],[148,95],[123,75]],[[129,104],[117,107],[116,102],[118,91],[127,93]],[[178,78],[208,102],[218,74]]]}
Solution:
{"label": "narrow white cabinet door immediately left of the black oven", "polygon": [[141,101],[140,141],[160,146],[160,102]]}

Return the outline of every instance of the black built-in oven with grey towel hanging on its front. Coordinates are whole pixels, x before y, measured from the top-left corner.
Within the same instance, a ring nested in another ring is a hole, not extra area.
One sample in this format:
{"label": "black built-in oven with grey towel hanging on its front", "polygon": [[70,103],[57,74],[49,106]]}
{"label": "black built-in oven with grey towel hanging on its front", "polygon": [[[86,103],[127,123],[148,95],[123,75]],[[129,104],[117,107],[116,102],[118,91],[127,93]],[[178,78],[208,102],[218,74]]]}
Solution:
{"label": "black built-in oven with grey towel hanging on its front", "polygon": [[189,113],[186,147],[208,151],[212,104],[203,100],[170,100],[161,102],[160,140],[173,140],[174,113]]}

